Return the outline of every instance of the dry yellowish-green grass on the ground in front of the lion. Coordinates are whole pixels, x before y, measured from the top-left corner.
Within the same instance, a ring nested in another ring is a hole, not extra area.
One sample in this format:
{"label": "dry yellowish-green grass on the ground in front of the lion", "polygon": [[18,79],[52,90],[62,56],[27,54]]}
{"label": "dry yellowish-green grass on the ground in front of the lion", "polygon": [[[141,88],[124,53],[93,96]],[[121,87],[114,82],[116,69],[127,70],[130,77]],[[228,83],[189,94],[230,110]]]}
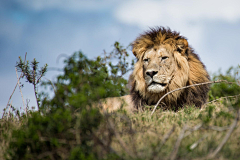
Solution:
{"label": "dry yellowish-green grass on the ground in front of the lion", "polygon": [[[187,107],[178,112],[158,110],[151,117],[150,111],[129,116],[129,125],[116,116],[115,124],[122,147],[116,138],[112,147],[126,159],[208,159],[236,121],[236,111],[221,103],[203,109]],[[240,157],[240,127],[237,123],[229,139],[210,159],[236,159]]]}

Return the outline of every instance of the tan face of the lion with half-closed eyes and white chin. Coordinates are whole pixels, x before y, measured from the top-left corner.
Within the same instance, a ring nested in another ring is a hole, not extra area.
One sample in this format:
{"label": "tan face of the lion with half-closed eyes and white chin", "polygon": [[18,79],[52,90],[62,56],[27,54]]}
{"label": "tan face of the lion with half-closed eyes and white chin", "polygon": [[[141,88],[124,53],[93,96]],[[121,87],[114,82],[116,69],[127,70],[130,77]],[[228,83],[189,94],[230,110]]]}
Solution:
{"label": "tan face of the lion with half-closed eyes and white chin", "polygon": [[143,74],[148,92],[160,93],[164,91],[175,71],[173,53],[164,46],[151,48],[143,56]]}

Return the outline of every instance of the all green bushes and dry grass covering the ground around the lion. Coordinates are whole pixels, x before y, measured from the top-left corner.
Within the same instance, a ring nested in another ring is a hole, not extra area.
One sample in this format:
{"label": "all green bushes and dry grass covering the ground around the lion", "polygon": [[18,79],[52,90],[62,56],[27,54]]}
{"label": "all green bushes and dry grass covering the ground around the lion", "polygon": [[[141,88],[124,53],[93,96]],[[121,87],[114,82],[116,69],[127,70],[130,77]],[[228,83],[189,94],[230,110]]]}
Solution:
{"label": "all green bushes and dry grass covering the ground around the lion", "polygon": [[[81,52],[67,58],[64,72],[56,82],[42,82],[43,87],[52,88],[54,96],[35,92],[38,111],[28,110],[27,114],[11,117],[6,114],[0,120],[0,159],[240,157],[240,100],[235,96],[240,90],[239,77],[234,75],[237,68],[213,75],[213,80],[226,79],[236,85],[213,84],[209,93],[210,100],[234,97],[212,101],[201,110],[194,106],[178,112],[158,109],[150,116],[149,106],[135,114],[124,110],[102,113],[95,107],[100,99],[129,93],[124,76],[134,62],[128,62],[128,56],[127,48],[116,42],[112,52],[94,60]],[[47,69],[45,65],[38,70],[37,65],[36,60],[31,66],[21,59],[17,63],[36,91]]]}

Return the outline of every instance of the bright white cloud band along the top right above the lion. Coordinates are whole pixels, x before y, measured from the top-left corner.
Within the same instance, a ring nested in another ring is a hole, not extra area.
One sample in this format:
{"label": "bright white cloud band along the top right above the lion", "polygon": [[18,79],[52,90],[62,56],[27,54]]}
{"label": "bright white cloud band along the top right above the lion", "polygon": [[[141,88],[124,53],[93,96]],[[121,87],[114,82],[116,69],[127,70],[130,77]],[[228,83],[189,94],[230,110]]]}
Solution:
{"label": "bright white cloud band along the top right above the lion", "polygon": [[199,20],[223,20],[236,22],[240,19],[240,1],[229,0],[171,0],[171,1],[128,1],[115,12],[116,18],[141,28],[159,23],[190,23]]}

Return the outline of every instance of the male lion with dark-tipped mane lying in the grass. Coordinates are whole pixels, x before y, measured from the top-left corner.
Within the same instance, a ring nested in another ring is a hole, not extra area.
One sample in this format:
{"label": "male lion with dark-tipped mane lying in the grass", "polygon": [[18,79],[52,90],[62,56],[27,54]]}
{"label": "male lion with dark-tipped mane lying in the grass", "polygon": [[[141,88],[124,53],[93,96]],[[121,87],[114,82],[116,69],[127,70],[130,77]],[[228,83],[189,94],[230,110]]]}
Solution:
{"label": "male lion with dark-tipped mane lying in the grass", "polygon": [[[144,105],[155,105],[169,91],[209,81],[205,66],[187,39],[175,31],[152,28],[140,35],[132,47],[137,62],[129,80],[131,94],[120,99],[107,99],[104,108],[115,110],[123,99],[127,109],[139,110]],[[179,90],[166,96],[160,105],[173,110],[185,105],[201,107],[207,100],[208,91],[209,85]]]}

